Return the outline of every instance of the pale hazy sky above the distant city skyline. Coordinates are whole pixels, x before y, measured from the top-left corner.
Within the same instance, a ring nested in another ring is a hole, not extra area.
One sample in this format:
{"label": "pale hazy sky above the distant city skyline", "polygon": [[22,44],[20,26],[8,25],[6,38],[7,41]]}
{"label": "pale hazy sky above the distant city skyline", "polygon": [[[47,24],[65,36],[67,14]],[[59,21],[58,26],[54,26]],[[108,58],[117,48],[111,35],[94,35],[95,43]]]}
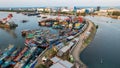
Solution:
{"label": "pale hazy sky above the distant city skyline", "polygon": [[0,7],[120,6],[120,0],[0,0]]}

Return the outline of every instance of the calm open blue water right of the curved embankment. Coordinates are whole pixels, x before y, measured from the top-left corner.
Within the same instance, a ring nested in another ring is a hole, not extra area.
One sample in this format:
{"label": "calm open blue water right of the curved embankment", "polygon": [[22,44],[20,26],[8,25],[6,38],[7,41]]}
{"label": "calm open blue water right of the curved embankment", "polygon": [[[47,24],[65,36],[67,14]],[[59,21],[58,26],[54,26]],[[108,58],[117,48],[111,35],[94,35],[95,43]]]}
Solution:
{"label": "calm open blue water right of the curved embankment", "polygon": [[120,20],[90,16],[86,18],[99,25],[99,28],[94,40],[81,53],[81,60],[88,68],[120,68]]}

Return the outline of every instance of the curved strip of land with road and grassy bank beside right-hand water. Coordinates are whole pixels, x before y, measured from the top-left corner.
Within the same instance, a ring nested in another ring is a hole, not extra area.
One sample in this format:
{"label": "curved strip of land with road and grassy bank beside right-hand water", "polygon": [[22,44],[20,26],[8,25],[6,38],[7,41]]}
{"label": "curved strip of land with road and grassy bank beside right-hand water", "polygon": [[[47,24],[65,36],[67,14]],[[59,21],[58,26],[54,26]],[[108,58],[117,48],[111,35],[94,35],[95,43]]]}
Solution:
{"label": "curved strip of land with road and grassy bank beside right-hand water", "polygon": [[[75,46],[75,48],[73,49],[73,51],[71,52],[71,54],[74,58],[74,64],[75,64],[76,68],[87,68],[87,66],[81,61],[80,54],[90,44],[90,42],[94,39],[95,34],[96,34],[95,24],[90,20],[87,20],[87,21],[89,23],[88,27],[79,36],[80,40],[79,40],[78,44]],[[88,31],[90,32],[90,35],[86,36],[85,33]]]}

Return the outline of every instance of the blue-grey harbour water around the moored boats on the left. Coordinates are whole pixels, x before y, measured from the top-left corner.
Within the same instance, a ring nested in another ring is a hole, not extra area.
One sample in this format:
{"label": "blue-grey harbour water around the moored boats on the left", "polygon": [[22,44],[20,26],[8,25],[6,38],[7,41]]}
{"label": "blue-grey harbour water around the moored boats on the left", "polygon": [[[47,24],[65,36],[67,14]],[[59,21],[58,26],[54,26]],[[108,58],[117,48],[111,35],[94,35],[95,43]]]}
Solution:
{"label": "blue-grey harbour water around the moored boats on the left", "polygon": [[[11,12],[0,12],[0,19],[5,18],[9,13]],[[4,50],[8,47],[9,44],[14,44],[18,48],[24,47],[24,40],[21,36],[21,31],[24,29],[49,29],[52,33],[57,33],[56,30],[52,28],[47,27],[40,27],[38,25],[38,18],[36,16],[25,16],[22,14],[16,14],[12,12],[13,18],[12,21],[14,21],[16,24],[18,24],[18,27],[16,29],[3,29],[0,28],[0,49]],[[27,23],[22,23],[22,20],[28,20]],[[41,19],[39,19],[41,20]]]}

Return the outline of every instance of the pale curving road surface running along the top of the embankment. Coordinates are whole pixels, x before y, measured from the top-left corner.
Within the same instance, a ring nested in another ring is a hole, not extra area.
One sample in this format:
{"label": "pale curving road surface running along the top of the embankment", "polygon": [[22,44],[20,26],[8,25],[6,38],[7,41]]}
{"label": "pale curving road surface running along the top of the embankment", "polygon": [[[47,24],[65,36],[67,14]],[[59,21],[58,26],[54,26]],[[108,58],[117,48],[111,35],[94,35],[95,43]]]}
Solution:
{"label": "pale curving road surface running along the top of the embankment", "polygon": [[73,58],[75,60],[75,66],[76,68],[80,68],[81,67],[81,61],[80,61],[80,57],[79,57],[79,54],[80,54],[80,47],[83,43],[83,40],[85,38],[87,38],[87,36],[85,35],[86,32],[90,31],[91,27],[93,26],[93,24],[91,22],[89,22],[89,25],[87,27],[87,29],[79,36],[80,40],[78,42],[78,44],[76,45],[76,47],[73,49],[73,51],[71,52],[71,54],[73,55]]}

